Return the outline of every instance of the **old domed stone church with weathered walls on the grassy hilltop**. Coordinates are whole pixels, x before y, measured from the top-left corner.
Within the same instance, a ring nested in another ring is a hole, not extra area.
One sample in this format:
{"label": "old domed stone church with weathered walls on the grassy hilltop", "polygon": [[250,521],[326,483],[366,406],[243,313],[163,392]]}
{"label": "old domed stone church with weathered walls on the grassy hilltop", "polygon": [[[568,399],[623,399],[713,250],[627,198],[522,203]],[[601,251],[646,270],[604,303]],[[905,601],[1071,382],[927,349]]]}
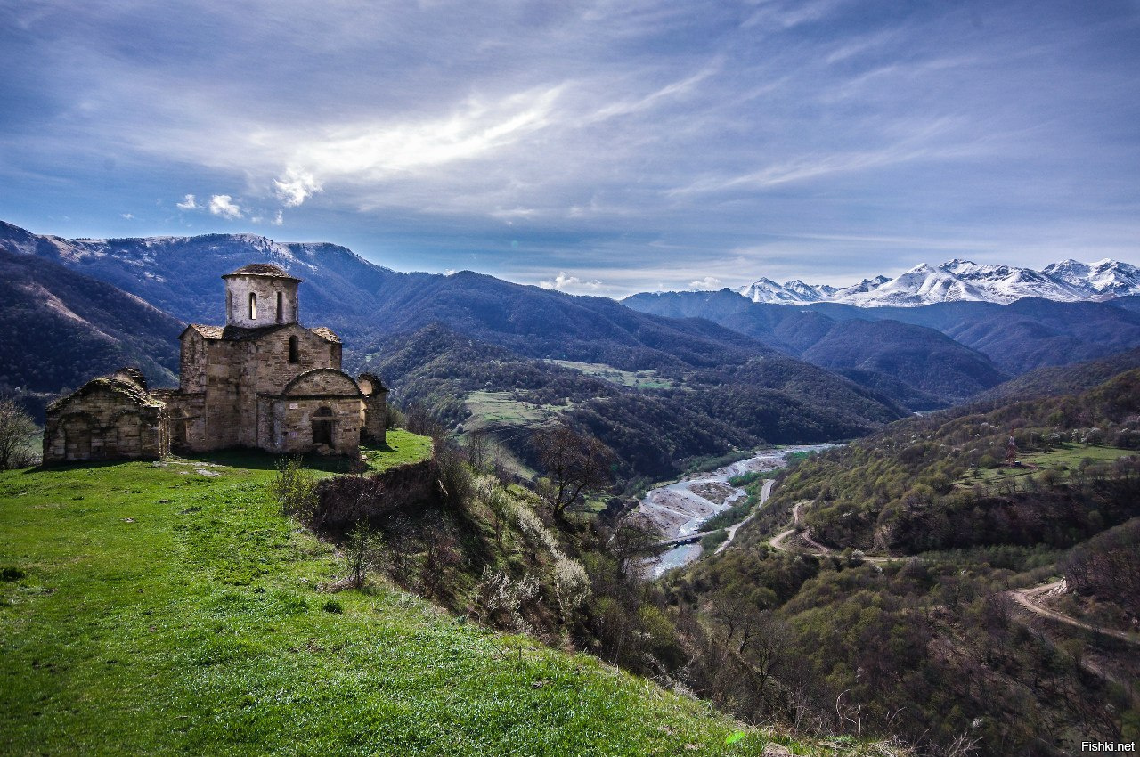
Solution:
{"label": "old domed stone church with weathered walls on the grassy hilltop", "polygon": [[300,324],[301,279],[268,263],[222,279],[226,325],[179,336],[179,388],[148,390],[136,368],[89,381],[48,406],[46,464],[227,447],[356,456],[361,439],[384,441],[388,389],[341,371],[331,329]]}

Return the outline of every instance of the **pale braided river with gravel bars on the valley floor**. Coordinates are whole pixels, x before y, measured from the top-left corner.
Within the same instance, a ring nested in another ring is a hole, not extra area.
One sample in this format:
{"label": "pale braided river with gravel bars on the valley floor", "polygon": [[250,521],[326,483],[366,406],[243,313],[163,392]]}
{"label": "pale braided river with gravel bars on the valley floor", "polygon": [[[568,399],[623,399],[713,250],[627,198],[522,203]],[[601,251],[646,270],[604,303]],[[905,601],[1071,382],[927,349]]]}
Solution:
{"label": "pale braided river with gravel bars on the valley floor", "polygon": [[[732,477],[742,475],[751,471],[771,471],[783,467],[787,464],[788,455],[792,453],[816,451],[833,446],[798,445],[782,449],[767,449],[709,473],[695,473],[676,483],[654,487],[642,497],[634,513],[652,522],[660,529],[662,537],[666,539],[699,534],[705,521],[716,513],[727,510],[740,498],[748,496],[748,493],[740,487],[728,487],[728,479]],[[712,495],[714,499],[707,499],[697,491],[706,488],[707,485],[720,485],[712,488],[722,493],[725,491],[722,487],[728,487],[732,491],[723,502],[716,502],[720,497],[715,495]],[[648,561],[645,563],[645,573],[646,576],[658,578],[665,571],[690,563],[700,555],[701,545],[699,543],[682,544],[673,547],[656,560]]]}

